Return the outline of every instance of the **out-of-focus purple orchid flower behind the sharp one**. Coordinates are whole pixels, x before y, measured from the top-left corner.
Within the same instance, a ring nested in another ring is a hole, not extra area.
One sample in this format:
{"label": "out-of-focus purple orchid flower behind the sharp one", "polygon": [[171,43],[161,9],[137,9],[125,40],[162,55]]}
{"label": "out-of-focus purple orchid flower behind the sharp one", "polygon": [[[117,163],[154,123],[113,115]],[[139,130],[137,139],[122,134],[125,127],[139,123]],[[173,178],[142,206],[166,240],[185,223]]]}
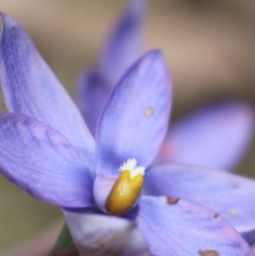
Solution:
{"label": "out-of-focus purple orchid flower behind the sharp one", "polygon": [[[144,9],[144,1],[129,2],[98,63],[83,71],[78,81],[77,104],[92,134],[112,89],[144,52]],[[156,162],[182,162],[231,171],[251,145],[254,117],[252,106],[246,103],[207,105],[171,125]]]}

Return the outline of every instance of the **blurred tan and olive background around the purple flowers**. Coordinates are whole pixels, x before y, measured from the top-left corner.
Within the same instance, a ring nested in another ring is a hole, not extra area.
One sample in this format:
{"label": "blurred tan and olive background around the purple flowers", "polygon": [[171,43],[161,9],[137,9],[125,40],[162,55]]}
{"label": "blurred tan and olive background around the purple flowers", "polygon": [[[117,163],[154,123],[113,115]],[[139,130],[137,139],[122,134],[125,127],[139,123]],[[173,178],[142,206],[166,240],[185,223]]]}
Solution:
{"label": "blurred tan and olive background around the purple flowers", "polygon": [[[209,102],[237,99],[255,103],[253,0],[147,3],[145,46],[161,48],[166,56],[173,78],[173,120]],[[126,4],[120,0],[0,0],[0,10],[26,27],[74,98],[79,72],[99,57],[105,37]],[[6,111],[2,98],[0,107]],[[252,151],[254,154],[254,146],[237,172],[255,177]],[[54,223],[47,235],[39,236],[41,243],[45,239],[51,246],[60,229],[59,208],[37,202],[2,176],[0,186],[0,255],[14,255],[4,252],[31,237],[36,239],[40,230]]]}

